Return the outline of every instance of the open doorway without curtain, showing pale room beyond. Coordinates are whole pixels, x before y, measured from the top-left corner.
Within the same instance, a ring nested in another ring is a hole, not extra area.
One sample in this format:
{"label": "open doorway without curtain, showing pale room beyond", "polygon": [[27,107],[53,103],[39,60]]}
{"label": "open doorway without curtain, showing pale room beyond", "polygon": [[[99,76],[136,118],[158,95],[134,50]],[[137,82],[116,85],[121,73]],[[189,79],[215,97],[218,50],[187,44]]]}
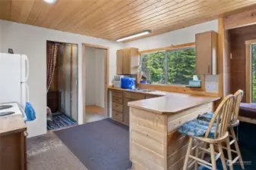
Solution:
{"label": "open doorway without curtain, showing pale room beyond", "polygon": [[83,44],[84,123],[109,117],[108,59],[109,48]]}

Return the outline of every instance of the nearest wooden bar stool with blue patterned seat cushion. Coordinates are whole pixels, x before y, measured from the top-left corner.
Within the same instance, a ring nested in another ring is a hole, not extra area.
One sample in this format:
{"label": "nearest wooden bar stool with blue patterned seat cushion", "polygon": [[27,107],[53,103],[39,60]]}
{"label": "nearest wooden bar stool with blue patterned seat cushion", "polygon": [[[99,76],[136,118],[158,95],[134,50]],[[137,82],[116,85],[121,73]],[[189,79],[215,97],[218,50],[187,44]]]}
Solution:
{"label": "nearest wooden bar stool with blue patterned seat cushion", "polygon": [[[229,94],[222,100],[221,104],[214,112],[213,118],[210,122],[194,119],[186,122],[179,128],[180,133],[187,134],[190,137],[183,170],[188,169],[188,159],[193,159],[194,169],[198,169],[199,164],[216,170],[216,159],[219,158],[221,159],[223,170],[227,169],[225,157],[223,155],[223,146],[221,143],[223,141],[229,142],[228,125],[231,120],[234,102],[234,95]],[[194,139],[198,141],[198,144],[195,147],[192,146]],[[210,150],[207,150],[205,147],[201,147],[200,143],[204,143],[204,146],[209,144]],[[214,150],[214,144],[218,146],[218,153]],[[191,155],[192,147],[195,149],[194,156]],[[210,153],[211,163],[199,158],[200,150],[202,151],[202,154],[204,154],[204,152]]]}

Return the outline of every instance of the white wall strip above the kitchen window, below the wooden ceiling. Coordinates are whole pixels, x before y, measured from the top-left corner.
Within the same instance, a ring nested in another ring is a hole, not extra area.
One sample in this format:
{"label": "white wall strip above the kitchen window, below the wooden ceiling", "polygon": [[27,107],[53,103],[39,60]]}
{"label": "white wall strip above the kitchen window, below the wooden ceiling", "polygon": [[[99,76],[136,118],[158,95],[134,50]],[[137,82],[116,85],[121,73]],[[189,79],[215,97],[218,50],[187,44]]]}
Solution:
{"label": "white wall strip above the kitchen window, below the wooden ceiling", "polygon": [[126,47],[139,48],[139,50],[147,50],[153,48],[163,48],[170,45],[182,45],[195,41],[195,34],[206,31],[218,32],[218,20],[212,20],[207,23],[189,26],[184,29],[166,32],[160,35],[151,36],[145,39],[138,39],[132,42],[126,42]]}

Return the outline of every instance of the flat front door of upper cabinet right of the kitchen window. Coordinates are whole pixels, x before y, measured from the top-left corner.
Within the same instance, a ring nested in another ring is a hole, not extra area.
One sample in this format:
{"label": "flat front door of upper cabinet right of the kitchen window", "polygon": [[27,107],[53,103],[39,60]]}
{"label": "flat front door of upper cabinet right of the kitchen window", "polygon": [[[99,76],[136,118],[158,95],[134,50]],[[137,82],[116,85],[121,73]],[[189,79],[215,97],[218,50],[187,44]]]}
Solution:
{"label": "flat front door of upper cabinet right of the kitchen window", "polygon": [[196,63],[195,73],[212,74],[212,32],[203,32],[195,36]]}

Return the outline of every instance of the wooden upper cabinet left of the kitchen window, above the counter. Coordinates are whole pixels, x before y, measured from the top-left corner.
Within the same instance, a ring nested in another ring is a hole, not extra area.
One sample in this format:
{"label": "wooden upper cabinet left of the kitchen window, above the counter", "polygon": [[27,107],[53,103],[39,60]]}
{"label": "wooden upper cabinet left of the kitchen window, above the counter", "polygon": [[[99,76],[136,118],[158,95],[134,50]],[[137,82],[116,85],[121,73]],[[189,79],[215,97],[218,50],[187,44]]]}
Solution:
{"label": "wooden upper cabinet left of the kitchen window, above the counter", "polygon": [[116,52],[116,74],[137,74],[140,55],[137,48],[125,48]]}

